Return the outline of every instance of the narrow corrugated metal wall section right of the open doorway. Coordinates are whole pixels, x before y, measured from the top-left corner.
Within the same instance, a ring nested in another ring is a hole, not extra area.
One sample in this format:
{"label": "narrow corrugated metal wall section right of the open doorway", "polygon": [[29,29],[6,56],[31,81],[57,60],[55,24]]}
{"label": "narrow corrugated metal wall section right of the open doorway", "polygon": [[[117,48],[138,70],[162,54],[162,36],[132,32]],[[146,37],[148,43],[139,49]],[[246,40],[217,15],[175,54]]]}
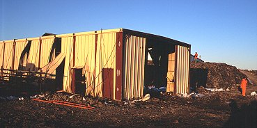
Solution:
{"label": "narrow corrugated metal wall section right of the open doorway", "polygon": [[188,47],[176,45],[176,93],[189,93],[189,56]]}

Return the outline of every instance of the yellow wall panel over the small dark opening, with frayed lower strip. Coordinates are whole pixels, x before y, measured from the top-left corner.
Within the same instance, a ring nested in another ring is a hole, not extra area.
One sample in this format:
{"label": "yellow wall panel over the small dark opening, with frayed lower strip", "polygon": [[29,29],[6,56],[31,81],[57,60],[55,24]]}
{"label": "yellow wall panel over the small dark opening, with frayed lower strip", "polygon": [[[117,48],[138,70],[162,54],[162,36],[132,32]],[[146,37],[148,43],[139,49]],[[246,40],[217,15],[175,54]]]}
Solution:
{"label": "yellow wall panel over the small dark opening, with frayed lower strip", "polygon": [[76,35],[75,67],[84,67],[86,95],[94,95],[95,34]]}

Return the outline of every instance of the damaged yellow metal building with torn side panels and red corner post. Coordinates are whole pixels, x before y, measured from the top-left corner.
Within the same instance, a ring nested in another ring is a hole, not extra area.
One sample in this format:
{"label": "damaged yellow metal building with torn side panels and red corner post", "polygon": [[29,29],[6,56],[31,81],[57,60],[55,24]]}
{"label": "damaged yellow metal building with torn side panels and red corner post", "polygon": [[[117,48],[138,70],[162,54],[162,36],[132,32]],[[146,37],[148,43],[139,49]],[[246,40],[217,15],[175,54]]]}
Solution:
{"label": "damaged yellow metal building with torn side panels and red corner post", "polygon": [[109,29],[0,42],[1,80],[54,80],[68,93],[133,99],[144,86],[189,93],[191,45],[159,35]]}

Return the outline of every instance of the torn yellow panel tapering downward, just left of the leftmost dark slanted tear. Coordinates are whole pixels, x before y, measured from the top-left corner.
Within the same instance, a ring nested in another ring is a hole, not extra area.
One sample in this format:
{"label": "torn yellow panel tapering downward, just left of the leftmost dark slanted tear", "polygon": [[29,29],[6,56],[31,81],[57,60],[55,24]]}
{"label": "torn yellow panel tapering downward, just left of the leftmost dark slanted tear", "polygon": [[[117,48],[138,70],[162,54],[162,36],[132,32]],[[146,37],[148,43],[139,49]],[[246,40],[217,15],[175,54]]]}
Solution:
{"label": "torn yellow panel tapering downward, just left of the leftmost dark slanted tear", "polygon": [[15,62],[14,62],[14,70],[18,70],[20,65],[20,57],[22,55],[22,51],[27,45],[26,39],[23,40],[15,40]]}

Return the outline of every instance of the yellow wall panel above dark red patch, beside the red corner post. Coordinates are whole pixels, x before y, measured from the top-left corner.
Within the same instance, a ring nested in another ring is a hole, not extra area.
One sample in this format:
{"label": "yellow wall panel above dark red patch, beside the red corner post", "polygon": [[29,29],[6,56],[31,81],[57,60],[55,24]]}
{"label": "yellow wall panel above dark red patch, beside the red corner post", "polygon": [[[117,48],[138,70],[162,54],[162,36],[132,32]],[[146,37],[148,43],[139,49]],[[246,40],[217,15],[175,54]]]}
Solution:
{"label": "yellow wall panel above dark red patch, beside the red corner post", "polygon": [[[95,60],[95,86],[94,96],[102,97],[102,69],[114,69],[114,86],[116,85],[116,33],[100,33],[98,34],[98,43]],[[111,90],[110,90],[111,91]],[[114,90],[112,90],[114,91]],[[115,91],[114,91],[115,92]],[[115,95],[115,94],[114,94]]]}

